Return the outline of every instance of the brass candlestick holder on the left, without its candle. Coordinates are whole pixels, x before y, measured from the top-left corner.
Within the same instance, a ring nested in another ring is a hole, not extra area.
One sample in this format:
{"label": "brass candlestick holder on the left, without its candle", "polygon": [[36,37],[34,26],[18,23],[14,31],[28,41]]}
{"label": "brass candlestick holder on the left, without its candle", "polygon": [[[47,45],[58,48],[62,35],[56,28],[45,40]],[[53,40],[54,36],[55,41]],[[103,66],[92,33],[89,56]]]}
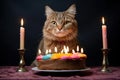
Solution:
{"label": "brass candlestick holder on the left, without its candle", "polygon": [[27,69],[25,68],[25,60],[24,60],[25,49],[18,49],[18,51],[20,54],[20,62],[17,72],[26,72]]}

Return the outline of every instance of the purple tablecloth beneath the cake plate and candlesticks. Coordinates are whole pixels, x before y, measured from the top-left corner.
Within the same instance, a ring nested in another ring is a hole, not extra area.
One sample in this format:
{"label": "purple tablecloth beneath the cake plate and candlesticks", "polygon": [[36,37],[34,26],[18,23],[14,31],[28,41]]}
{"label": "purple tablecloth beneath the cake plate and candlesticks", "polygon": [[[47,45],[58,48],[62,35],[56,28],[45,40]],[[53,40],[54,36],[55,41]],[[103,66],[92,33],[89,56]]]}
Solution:
{"label": "purple tablecloth beneath the cake plate and candlesticks", "polygon": [[109,67],[111,72],[101,72],[101,67],[90,67],[80,72],[36,72],[25,66],[27,72],[16,72],[18,66],[0,66],[1,80],[120,80],[120,67]]}

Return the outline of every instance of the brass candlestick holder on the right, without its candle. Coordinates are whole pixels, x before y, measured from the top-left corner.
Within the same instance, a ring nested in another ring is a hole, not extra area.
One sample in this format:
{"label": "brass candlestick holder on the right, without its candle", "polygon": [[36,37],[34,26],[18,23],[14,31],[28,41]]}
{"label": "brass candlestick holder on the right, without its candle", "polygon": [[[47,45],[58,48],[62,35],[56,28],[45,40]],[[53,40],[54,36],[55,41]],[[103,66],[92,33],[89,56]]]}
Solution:
{"label": "brass candlestick holder on the right, without its candle", "polygon": [[102,49],[103,52],[103,61],[102,61],[102,69],[101,72],[109,72],[109,62],[108,62],[108,51],[109,49]]}

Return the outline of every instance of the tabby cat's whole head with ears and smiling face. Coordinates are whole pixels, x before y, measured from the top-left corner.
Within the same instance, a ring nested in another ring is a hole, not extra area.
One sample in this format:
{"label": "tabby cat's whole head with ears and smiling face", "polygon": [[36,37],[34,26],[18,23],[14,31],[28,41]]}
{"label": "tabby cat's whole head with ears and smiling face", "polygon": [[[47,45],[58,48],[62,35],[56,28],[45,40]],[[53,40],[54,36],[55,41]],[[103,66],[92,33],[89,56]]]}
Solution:
{"label": "tabby cat's whole head with ears and smiling face", "polygon": [[76,8],[72,5],[63,12],[53,11],[46,6],[45,25],[43,28],[44,37],[51,40],[67,40],[77,35],[77,21],[75,20]]}

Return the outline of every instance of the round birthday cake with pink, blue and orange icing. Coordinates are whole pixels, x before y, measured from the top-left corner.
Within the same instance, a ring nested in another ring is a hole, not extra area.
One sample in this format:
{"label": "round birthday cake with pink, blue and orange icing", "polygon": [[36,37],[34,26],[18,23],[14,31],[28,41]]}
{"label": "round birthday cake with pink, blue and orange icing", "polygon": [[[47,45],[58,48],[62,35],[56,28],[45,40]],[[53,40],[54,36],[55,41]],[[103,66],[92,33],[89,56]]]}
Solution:
{"label": "round birthday cake with pink, blue and orange icing", "polygon": [[86,68],[84,53],[52,53],[36,57],[41,70],[79,70]]}

